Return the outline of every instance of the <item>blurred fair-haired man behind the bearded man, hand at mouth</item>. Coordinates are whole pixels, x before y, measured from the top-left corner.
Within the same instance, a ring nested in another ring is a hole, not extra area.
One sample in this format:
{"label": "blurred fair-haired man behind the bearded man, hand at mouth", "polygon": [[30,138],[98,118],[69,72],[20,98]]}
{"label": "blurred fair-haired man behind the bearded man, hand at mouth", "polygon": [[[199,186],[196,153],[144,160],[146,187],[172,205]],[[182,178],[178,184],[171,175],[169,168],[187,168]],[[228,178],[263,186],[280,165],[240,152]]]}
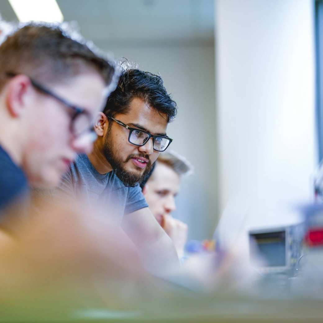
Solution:
{"label": "blurred fair-haired man behind the bearded man, hand at mouth", "polygon": [[167,151],[155,163],[143,193],[157,222],[172,239],[178,255],[183,255],[187,239],[187,224],[172,217],[176,209],[175,197],[180,189],[181,176],[192,172],[191,164],[182,156]]}

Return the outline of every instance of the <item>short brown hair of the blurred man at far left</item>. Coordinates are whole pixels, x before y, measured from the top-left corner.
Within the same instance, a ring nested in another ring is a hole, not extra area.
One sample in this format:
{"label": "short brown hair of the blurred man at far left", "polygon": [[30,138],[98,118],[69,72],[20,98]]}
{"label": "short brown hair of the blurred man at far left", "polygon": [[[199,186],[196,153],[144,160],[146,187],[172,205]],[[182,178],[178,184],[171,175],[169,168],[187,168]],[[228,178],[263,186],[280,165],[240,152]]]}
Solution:
{"label": "short brown hair of the blurred man at far left", "polygon": [[0,90],[7,80],[5,72],[55,83],[87,69],[97,71],[107,85],[117,81],[113,61],[85,41],[72,39],[59,24],[27,24],[0,45]]}

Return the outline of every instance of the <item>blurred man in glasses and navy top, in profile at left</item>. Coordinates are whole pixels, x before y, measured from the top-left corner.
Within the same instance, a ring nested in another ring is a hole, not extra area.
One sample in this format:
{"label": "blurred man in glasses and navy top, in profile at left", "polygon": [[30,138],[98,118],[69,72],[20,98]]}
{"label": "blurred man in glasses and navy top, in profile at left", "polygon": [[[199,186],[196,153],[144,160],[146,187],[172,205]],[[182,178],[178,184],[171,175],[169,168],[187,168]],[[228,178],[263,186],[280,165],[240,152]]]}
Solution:
{"label": "blurred man in glasses and navy top, in profile at left", "polygon": [[[59,26],[28,24],[0,46],[0,212],[28,185],[54,187],[115,87],[115,67]],[[16,212],[19,213],[19,212]]]}

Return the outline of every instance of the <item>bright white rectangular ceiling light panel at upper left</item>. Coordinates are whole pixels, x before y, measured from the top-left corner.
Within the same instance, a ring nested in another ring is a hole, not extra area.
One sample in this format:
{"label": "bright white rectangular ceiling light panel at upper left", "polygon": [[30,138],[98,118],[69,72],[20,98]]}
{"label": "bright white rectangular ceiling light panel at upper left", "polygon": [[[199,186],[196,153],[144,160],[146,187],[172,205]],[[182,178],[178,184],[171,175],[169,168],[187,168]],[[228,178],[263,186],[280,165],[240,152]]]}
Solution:
{"label": "bright white rectangular ceiling light panel at upper left", "polygon": [[56,0],[8,0],[19,21],[62,22],[64,17]]}

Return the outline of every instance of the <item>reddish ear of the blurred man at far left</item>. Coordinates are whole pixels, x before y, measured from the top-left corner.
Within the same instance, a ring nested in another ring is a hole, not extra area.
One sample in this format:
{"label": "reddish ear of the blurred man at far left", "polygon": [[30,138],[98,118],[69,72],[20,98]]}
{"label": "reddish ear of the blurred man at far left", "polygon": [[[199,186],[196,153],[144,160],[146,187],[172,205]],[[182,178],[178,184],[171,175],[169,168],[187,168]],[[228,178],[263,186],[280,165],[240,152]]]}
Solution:
{"label": "reddish ear of the blurred man at far left", "polygon": [[31,82],[26,75],[17,75],[10,79],[5,97],[6,106],[13,117],[19,117],[26,108],[26,94]]}

